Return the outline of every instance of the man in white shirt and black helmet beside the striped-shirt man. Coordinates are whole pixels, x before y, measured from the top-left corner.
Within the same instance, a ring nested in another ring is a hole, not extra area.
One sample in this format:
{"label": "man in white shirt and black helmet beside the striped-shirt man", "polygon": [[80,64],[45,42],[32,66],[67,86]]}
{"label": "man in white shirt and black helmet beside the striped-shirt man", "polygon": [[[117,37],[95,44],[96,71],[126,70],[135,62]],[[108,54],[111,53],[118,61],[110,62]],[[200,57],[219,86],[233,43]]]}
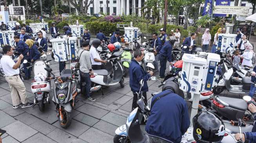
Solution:
{"label": "man in white shirt and black helmet beside the striped-shirt man", "polygon": [[100,39],[94,39],[93,40],[93,45],[91,46],[90,49],[90,57],[91,57],[91,62],[92,62],[92,69],[93,70],[101,70],[104,69],[104,66],[102,63],[107,63],[107,61],[102,61],[100,59],[100,55],[97,52],[98,46],[101,44]]}

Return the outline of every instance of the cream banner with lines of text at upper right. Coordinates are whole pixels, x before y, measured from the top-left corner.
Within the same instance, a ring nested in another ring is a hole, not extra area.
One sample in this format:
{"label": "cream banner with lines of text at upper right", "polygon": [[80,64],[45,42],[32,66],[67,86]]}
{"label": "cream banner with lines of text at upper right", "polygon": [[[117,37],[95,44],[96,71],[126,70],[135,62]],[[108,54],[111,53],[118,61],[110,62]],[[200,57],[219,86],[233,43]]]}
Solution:
{"label": "cream banner with lines of text at upper right", "polygon": [[250,7],[239,7],[239,6],[215,6],[214,14],[239,14],[246,16],[249,13]]}

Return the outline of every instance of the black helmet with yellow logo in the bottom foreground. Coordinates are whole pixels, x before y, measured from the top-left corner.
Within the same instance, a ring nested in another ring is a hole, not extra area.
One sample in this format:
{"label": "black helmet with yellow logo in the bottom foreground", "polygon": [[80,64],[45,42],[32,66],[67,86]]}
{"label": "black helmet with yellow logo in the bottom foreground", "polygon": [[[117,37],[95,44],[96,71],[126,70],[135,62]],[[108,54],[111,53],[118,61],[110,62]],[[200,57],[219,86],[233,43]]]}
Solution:
{"label": "black helmet with yellow logo in the bottom foreground", "polygon": [[208,111],[194,116],[193,127],[193,137],[199,143],[219,143],[225,134],[225,126],[221,118]]}

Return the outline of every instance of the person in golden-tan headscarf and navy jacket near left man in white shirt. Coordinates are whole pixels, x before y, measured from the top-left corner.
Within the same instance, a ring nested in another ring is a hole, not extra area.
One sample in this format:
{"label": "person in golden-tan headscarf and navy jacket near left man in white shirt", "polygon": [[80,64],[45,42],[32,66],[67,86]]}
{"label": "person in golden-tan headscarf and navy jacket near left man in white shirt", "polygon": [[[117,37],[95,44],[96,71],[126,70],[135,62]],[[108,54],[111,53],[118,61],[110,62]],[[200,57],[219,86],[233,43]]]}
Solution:
{"label": "person in golden-tan headscarf and navy jacket near left man in white shirt", "polygon": [[31,63],[40,59],[40,52],[38,51],[38,47],[34,44],[34,40],[27,39],[25,43],[29,46],[29,56]]}

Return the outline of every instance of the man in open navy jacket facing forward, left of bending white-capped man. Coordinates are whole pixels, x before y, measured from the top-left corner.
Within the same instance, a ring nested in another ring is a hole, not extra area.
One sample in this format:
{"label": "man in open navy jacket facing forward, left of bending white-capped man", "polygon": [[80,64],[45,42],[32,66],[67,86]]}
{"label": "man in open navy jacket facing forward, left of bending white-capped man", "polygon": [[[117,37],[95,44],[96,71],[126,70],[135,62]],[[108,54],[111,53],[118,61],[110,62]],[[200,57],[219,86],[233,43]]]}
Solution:
{"label": "man in open navy jacket facing forward, left of bending white-capped man", "polygon": [[156,69],[159,69],[158,66],[160,65],[160,61],[159,61],[159,55],[160,55],[160,50],[162,48],[162,41],[161,39],[157,36],[157,33],[154,32],[152,34],[152,38],[153,38],[153,43],[151,45],[152,48],[154,48],[154,51],[156,52],[156,55],[155,55],[155,59],[156,59],[156,62],[154,63]]}

